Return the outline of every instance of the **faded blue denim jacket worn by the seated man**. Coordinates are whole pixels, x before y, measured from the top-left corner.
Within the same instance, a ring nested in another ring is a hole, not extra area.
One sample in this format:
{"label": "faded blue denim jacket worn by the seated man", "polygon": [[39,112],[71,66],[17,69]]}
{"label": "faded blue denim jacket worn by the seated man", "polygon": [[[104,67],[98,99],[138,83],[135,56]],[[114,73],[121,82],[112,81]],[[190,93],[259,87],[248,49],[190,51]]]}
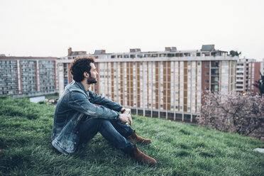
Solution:
{"label": "faded blue denim jacket worn by the seated man", "polygon": [[65,155],[73,153],[79,142],[78,130],[83,116],[118,120],[121,109],[114,101],[89,90],[86,92],[81,82],[72,82],[57,102],[51,135],[53,146]]}

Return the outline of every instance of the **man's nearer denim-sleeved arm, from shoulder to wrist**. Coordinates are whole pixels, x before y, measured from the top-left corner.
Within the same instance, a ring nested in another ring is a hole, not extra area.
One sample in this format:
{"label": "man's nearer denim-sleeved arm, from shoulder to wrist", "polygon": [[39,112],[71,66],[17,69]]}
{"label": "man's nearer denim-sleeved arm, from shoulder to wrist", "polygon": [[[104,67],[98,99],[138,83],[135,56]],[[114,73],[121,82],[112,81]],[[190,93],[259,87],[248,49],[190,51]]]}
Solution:
{"label": "man's nearer denim-sleeved arm, from shoulder to wrist", "polygon": [[95,106],[81,92],[72,91],[68,106],[88,116],[101,119],[120,119],[120,114],[104,106]]}

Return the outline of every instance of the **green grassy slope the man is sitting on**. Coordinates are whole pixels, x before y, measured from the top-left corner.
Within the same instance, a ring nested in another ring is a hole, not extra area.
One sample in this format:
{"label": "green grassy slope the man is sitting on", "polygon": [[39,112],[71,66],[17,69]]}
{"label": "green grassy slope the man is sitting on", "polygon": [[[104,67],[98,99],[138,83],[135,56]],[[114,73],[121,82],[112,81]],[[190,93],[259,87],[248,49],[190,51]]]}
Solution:
{"label": "green grassy slope the man is sitting on", "polygon": [[0,97],[0,175],[264,175],[263,141],[185,123],[133,116],[154,167],[136,163],[97,134],[72,155],[51,145],[54,106]]}

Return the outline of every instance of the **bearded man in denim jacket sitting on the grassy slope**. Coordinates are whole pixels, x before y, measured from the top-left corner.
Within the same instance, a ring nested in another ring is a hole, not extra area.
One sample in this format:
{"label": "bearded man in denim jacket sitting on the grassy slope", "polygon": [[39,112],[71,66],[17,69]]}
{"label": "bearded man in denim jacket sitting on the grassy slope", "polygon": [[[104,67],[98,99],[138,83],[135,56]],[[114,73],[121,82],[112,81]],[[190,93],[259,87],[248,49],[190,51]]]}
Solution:
{"label": "bearded man in denim jacket sitting on the grassy slope", "polygon": [[135,160],[155,165],[155,159],[145,155],[128,141],[151,143],[150,139],[141,138],[126,124],[129,121],[132,125],[131,115],[119,114],[119,111],[124,113],[126,109],[89,90],[91,84],[97,83],[98,78],[94,58],[76,58],[70,64],[70,72],[75,82],[65,87],[65,92],[57,103],[51,136],[53,146],[60,153],[68,155],[77,148],[84,148],[99,132],[111,145]]}

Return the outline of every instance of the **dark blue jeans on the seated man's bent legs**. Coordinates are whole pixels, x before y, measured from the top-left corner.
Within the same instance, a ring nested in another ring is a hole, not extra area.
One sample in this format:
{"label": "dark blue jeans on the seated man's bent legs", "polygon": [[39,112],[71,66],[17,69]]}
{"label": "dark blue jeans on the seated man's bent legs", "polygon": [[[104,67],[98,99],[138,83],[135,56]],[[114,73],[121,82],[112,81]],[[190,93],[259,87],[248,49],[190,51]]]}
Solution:
{"label": "dark blue jeans on the seated man's bent legs", "polygon": [[133,129],[120,120],[84,118],[79,126],[79,147],[84,147],[96,134],[101,133],[111,145],[128,155],[133,155],[133,144],[126,140]]}

